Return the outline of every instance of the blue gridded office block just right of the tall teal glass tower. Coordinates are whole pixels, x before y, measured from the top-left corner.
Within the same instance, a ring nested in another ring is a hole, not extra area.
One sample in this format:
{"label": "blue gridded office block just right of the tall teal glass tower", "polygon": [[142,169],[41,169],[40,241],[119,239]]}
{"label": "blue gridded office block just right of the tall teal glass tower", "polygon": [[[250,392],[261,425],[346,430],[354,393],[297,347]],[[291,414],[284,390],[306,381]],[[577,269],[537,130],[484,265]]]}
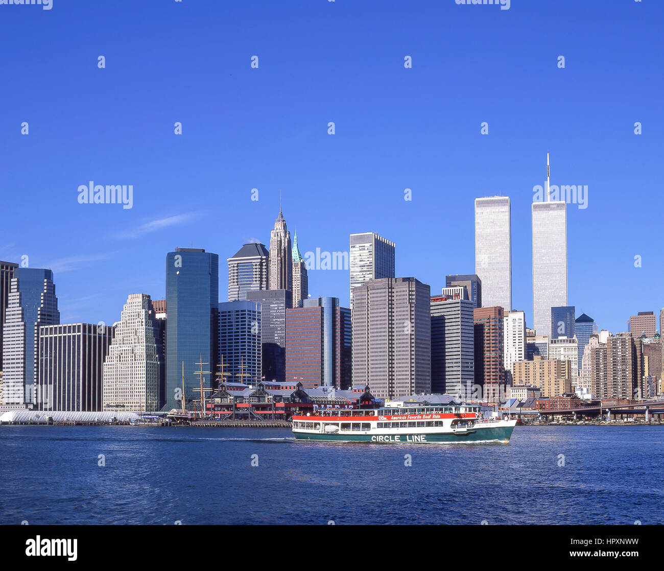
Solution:
{"label": "blue gridded office block just right of the tall teal glass tower", "polygon": [[[256,384],[261,372],[261,311],[257,301],[219,304],[218,380]],[[220,378],[221,377],[221,378]]]}

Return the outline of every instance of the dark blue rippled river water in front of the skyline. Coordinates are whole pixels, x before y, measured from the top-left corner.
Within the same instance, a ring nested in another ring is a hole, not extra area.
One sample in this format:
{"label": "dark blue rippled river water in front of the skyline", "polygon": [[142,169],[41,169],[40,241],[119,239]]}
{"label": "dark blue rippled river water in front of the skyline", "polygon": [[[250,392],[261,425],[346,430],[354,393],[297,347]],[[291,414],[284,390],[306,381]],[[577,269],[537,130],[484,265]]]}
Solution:
{"label": "dark blue rippled river water in front of the skyline", "polygon": [[0,524],[661,524],[663,438],[655,426],[517,426],[509,445],[409,446],[2,426]]}

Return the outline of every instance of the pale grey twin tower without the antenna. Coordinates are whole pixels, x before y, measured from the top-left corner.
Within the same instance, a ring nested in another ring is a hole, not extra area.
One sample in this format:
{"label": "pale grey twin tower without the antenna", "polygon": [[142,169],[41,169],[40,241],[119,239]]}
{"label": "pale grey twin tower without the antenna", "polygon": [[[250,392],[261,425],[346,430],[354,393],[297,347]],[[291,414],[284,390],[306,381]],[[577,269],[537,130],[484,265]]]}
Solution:
{"label": "pale grey twin tower without the antenna", "polygon": [[[475,274],[481,305],[512,309],[512,222],[509,197],[475,199]],[[479,306],[478,306],[479,307]]]}

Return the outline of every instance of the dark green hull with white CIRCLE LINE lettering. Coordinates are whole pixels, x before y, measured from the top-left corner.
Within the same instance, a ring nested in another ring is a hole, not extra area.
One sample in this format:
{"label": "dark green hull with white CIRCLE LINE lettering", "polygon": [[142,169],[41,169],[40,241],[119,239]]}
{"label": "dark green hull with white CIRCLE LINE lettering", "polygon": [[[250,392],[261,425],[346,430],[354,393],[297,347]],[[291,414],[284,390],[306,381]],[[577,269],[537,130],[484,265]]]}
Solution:
{"label": "dark green hull with white CIRCLE LINE lettering", "polygon": [[319,434],[313,432],[293,432],[296,440],[313,440],[319,442],[369,442],[371,444],[463,444],[469,442],[500,442],[507,444],[512,436],[514,424],[507,426],[492,426],[487,428],[473,428],[466,433],[420,433],[420,434],[389,434],[388,432],[375,432],[371,434]]}

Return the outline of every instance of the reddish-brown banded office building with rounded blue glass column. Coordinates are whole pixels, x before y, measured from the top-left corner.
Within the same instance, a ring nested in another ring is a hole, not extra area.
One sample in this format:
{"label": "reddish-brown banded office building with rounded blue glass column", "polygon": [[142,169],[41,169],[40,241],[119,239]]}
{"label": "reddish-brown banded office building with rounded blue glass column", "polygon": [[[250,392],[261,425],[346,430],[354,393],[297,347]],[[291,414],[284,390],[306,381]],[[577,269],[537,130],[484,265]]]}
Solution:
{"label": "reddish-brown banded office building with rounded blue glass column", "polygon": [[351,386],[351,311],[337,297],[305,299],[286,310],[286,380],[305,388]]}

